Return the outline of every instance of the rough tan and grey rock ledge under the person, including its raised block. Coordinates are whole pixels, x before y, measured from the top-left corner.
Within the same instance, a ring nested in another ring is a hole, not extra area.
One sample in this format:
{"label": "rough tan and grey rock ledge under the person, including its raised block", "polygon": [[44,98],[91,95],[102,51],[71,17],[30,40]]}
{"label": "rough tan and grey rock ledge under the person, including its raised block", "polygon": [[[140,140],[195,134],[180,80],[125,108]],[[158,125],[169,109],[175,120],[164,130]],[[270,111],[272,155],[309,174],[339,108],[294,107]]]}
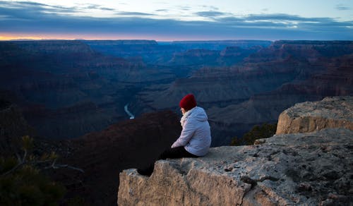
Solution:
{"label": "rough tan and grey rock ledge under the person, including its raised block", "polygon": [[[297,104],[281,114],[289,122],[305,116],[297,131],[286,128],[297,123],[281,124],[280,130],[293,133],[257,140],[256,145],[160,160],[150,177],[124,170],[118,205],[351,205],[353,131],[345,125],[353,123],[352,99]],[[345,128],[321,127],[314,119],[337,119]],[[315,129],[306,133],[313,122]]]}

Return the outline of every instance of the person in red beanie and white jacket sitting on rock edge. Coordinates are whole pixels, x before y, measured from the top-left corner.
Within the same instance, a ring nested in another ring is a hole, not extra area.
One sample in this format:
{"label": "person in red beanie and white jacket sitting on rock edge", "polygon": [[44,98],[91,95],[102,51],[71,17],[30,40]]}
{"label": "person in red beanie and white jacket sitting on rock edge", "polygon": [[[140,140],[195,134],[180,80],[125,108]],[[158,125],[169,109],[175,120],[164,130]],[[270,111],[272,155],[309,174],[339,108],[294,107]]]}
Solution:
{"label": "person in red beanie and white jacket sitting on rock edge", "polygon": [[[172,147],[164,150],[158,159],[175,159],[181,157],[202,157],[207,154],[211,145],[210,124],[205,110],[197,107],[196,99],[192,94],[186,95],[179,102],[182,131]],[[150,176],[154,164],[148,168],[138,169],[138,173]]]}

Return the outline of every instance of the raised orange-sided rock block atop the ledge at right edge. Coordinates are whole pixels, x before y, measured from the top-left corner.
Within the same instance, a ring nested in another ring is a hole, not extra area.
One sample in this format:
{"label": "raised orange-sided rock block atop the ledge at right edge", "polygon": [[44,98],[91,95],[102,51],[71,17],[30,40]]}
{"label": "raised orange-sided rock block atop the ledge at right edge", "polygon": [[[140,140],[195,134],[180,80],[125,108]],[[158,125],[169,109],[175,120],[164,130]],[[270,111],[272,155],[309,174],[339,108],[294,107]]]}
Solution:
{"label": "raised orange-sided rock block atop the ledge at right edge", "polygon": [[326,97],[295,104],[280,114],[276,134],[306,133],[323,128],[353,130],[353,97]]}

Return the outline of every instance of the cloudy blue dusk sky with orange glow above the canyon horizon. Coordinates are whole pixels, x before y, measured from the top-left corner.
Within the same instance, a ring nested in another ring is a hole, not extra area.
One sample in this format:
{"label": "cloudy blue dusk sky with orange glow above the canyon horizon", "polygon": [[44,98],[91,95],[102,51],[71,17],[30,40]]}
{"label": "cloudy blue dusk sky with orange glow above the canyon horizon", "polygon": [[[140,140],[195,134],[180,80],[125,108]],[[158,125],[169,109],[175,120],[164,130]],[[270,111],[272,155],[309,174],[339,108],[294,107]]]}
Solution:
{"label": "cloudy blue dusk sky with orange glow above the canyon horizon", "polygon": [[353,0],[0,0],[16,39],[353,40]]}

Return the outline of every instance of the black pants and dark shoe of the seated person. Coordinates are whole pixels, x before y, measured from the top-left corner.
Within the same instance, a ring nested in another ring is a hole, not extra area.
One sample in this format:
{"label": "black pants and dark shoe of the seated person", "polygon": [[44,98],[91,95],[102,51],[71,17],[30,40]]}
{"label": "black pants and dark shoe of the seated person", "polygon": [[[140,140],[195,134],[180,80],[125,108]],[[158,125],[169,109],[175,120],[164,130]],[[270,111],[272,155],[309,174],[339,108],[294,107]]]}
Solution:
{"label": "black pants and dark shoe of the seated person", "polygon": [[[160,159],[177,159],[177,158],[182,158],[182,157],[198,157],[195,154],[191,154],[190,152],[186,151],[185,148],[183,146],[181,147],[174,147],[174,148],[169,148],[167,150],[164,150],[164,152],[162,152],[162,154],[160,154],[160,156],[157,158],[157,160]],[[150,166],[148,166],[145,169],[138,169],[138,173],[145,175],[145,176],[150,176],[153,172],[153,169],[155,169],[155,163],[153,162],[152,164],[150,164]]]}

